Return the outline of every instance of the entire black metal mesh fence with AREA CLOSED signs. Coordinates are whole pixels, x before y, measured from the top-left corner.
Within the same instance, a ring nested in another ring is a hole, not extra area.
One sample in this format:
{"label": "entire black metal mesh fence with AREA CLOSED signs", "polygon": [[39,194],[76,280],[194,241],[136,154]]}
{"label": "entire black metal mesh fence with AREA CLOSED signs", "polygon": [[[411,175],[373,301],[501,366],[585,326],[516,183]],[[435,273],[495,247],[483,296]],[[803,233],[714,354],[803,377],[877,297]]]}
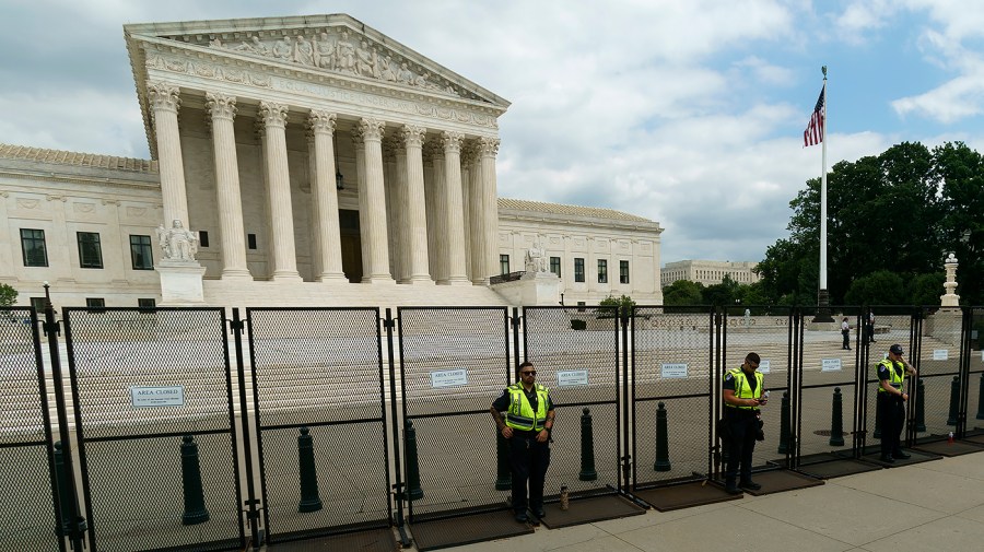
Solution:
{"label": "entire black metal mesh fence with AREA CLOSED signs", "polygon": [[67,308],[61,350],[49,308],[49,368],[33,309],[4,310],[0,548],[230,550],[506,508],[489,407],[524,359],[558,412],[548,500],[716,477],[722,375],[750,351],[760,469],[869,451],[892,343],[919,372],[907,445],[984,432],[984,309],[835,310],[851,350],[811,310],[663,306]]}

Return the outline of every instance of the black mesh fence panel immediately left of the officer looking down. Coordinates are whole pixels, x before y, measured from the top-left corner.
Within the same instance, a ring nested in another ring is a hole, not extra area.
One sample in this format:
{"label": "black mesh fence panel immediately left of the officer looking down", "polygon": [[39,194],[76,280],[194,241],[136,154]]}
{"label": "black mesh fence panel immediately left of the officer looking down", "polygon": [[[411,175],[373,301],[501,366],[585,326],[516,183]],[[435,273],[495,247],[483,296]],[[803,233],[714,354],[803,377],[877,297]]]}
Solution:
{"label": "black mesh fence panel immediately left of the officer looking down", "polygon": [[[633,489],[710,477],[714,423],[710,307],[636,307],[632,332]],[[657,445],[666,416],[666,449]]]}

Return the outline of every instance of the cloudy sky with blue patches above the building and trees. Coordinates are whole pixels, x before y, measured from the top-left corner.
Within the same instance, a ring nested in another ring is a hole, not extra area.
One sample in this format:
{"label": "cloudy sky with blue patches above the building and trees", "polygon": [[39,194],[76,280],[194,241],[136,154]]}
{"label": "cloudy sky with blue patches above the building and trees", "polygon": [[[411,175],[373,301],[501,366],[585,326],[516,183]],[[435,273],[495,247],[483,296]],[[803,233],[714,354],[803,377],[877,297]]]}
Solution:
{"label": "cloudy sky with blue patches above the building and trees", "polygon": [[984,2],[2,0],[0,142],[149,156],[126,23],[348,13],[512,102],[502,197],[658,221],[663,261],[760,260],[829,165],[984,150]]}

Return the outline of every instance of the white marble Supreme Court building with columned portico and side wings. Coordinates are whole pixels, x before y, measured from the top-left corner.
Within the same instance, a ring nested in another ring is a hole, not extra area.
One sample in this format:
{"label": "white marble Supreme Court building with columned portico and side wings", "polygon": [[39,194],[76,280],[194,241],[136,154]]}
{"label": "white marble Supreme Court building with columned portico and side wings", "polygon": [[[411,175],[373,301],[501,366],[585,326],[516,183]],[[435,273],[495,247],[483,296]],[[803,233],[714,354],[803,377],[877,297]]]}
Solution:
{"label": "white marble Supreme Court building with columned portico and side wings", "polygon": [[497,196],[508,102],[343,14],[124,27],[152,160],[0,144],[0,282],[27,304],[661,303],[658,223]]}

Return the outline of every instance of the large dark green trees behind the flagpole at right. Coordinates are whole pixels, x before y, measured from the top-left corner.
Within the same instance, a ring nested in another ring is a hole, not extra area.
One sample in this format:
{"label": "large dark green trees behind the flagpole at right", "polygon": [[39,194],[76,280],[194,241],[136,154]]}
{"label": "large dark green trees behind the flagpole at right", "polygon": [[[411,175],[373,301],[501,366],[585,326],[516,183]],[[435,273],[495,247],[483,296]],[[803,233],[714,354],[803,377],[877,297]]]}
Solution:
{"label": "large dark green trees behind the flagpole at right", "polygon": [[[771,245],[758,268],[762,294],[770,304],[815,305],[820,179],[808,180],[789,205],[789,236]],[[939,273],[949,251],[960,260],[961,302],[980,304],[984,300],[981,154],[961,142],[932,151],[921,143],[903,142],[880,155],[832,167],[828,174],[831,304],[938,304],[944,292]],[[882,272],[895,274],[899,282]],[[878,290],[876,284],[889,287]]]}

